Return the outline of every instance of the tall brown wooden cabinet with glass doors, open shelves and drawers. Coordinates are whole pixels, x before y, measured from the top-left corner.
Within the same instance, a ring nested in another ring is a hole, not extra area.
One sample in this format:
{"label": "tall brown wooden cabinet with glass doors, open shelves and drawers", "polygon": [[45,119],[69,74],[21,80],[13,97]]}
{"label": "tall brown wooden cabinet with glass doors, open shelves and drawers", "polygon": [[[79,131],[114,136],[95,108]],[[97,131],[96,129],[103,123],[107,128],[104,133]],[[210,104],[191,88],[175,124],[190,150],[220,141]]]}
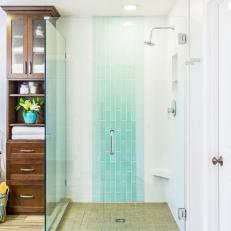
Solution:
{"label": "tall brown wooden cabinet with glass doors, open shelves and drawers", "polygon": [[[45,140],[13,140],[14,126],[24,124],[15,106],[19,99],[41,97],[45,101],[46,28],[44,17],[58,18],[53,6],[2,6],[7,13],[7,143],[6,181],[10,188],[9,214],[45,212]],[[55,20],[52,20],[55,22]],[[36,82],[38,92],[23,95],[20,86]],[[45,108],[45,107],[44,107]],[[37,123],[45,126],[45,109]]]}

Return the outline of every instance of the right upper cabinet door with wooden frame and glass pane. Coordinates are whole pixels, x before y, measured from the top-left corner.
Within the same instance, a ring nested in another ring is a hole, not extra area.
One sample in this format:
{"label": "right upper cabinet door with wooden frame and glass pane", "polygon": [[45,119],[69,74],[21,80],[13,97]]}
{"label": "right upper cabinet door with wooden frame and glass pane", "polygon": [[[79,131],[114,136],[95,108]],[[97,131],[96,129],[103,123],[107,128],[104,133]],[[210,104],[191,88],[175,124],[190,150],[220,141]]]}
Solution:
{"label": "right upper cabinet door with wooden frame and glass pane", "polygon": [[45,76],[45,21],[41,16],[28,18],[28,77]]}

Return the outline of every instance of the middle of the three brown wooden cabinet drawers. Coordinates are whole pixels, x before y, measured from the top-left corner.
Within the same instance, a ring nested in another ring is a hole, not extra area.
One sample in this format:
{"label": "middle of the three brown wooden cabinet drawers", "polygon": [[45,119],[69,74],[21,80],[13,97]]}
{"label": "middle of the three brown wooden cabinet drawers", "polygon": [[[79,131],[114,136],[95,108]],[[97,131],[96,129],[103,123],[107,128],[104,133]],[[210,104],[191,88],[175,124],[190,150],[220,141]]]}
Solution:
{"label": "middle of the three brown wooden cabinet drawers", "polygon": [[8,180],[44,180],[44,160],[39,159],[8,159]]}

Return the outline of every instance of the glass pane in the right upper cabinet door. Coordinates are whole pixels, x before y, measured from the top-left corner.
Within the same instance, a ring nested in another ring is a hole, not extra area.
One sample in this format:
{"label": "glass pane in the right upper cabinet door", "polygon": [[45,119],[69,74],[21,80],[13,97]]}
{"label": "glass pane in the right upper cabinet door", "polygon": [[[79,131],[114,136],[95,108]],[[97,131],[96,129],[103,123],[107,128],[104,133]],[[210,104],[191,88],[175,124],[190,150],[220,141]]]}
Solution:
{"label": "glass pane in the right upper cabinet door", "polygon": [[45,22],[33,20],[32,73],[44,73],[45,70]]}

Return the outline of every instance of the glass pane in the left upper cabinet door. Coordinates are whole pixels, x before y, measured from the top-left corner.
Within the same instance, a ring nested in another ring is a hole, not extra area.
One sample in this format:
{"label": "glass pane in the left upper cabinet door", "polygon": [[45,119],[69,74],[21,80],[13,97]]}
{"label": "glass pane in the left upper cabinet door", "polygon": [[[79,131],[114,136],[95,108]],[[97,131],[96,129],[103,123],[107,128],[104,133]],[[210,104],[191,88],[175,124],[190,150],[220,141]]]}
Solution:
{"label": "glass pane in the left upper cabinet door", "polygon": [[12,20],[12,73],[24,73],[24,21]]}

